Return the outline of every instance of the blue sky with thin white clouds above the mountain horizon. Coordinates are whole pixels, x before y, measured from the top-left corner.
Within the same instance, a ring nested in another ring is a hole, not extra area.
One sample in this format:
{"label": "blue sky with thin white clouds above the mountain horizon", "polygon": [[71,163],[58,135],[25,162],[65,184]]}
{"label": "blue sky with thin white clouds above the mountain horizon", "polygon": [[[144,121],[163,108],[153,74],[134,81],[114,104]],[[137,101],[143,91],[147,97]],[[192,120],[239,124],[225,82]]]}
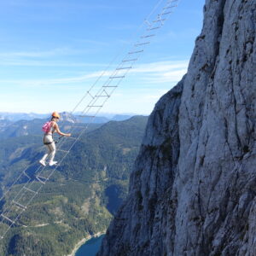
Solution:
{"label": "blue sky with thin white clouds above the mountain horizon", "polygon": [[[147,25],[138,27],[157,3],[1,1],[0,112],[71,111],[113,57],[120,53],[111,68],[136,42]],[[204,0],[178,3],[102,112],[153,110],[160,96],[186,73],[201,32],[203,4]]]}

